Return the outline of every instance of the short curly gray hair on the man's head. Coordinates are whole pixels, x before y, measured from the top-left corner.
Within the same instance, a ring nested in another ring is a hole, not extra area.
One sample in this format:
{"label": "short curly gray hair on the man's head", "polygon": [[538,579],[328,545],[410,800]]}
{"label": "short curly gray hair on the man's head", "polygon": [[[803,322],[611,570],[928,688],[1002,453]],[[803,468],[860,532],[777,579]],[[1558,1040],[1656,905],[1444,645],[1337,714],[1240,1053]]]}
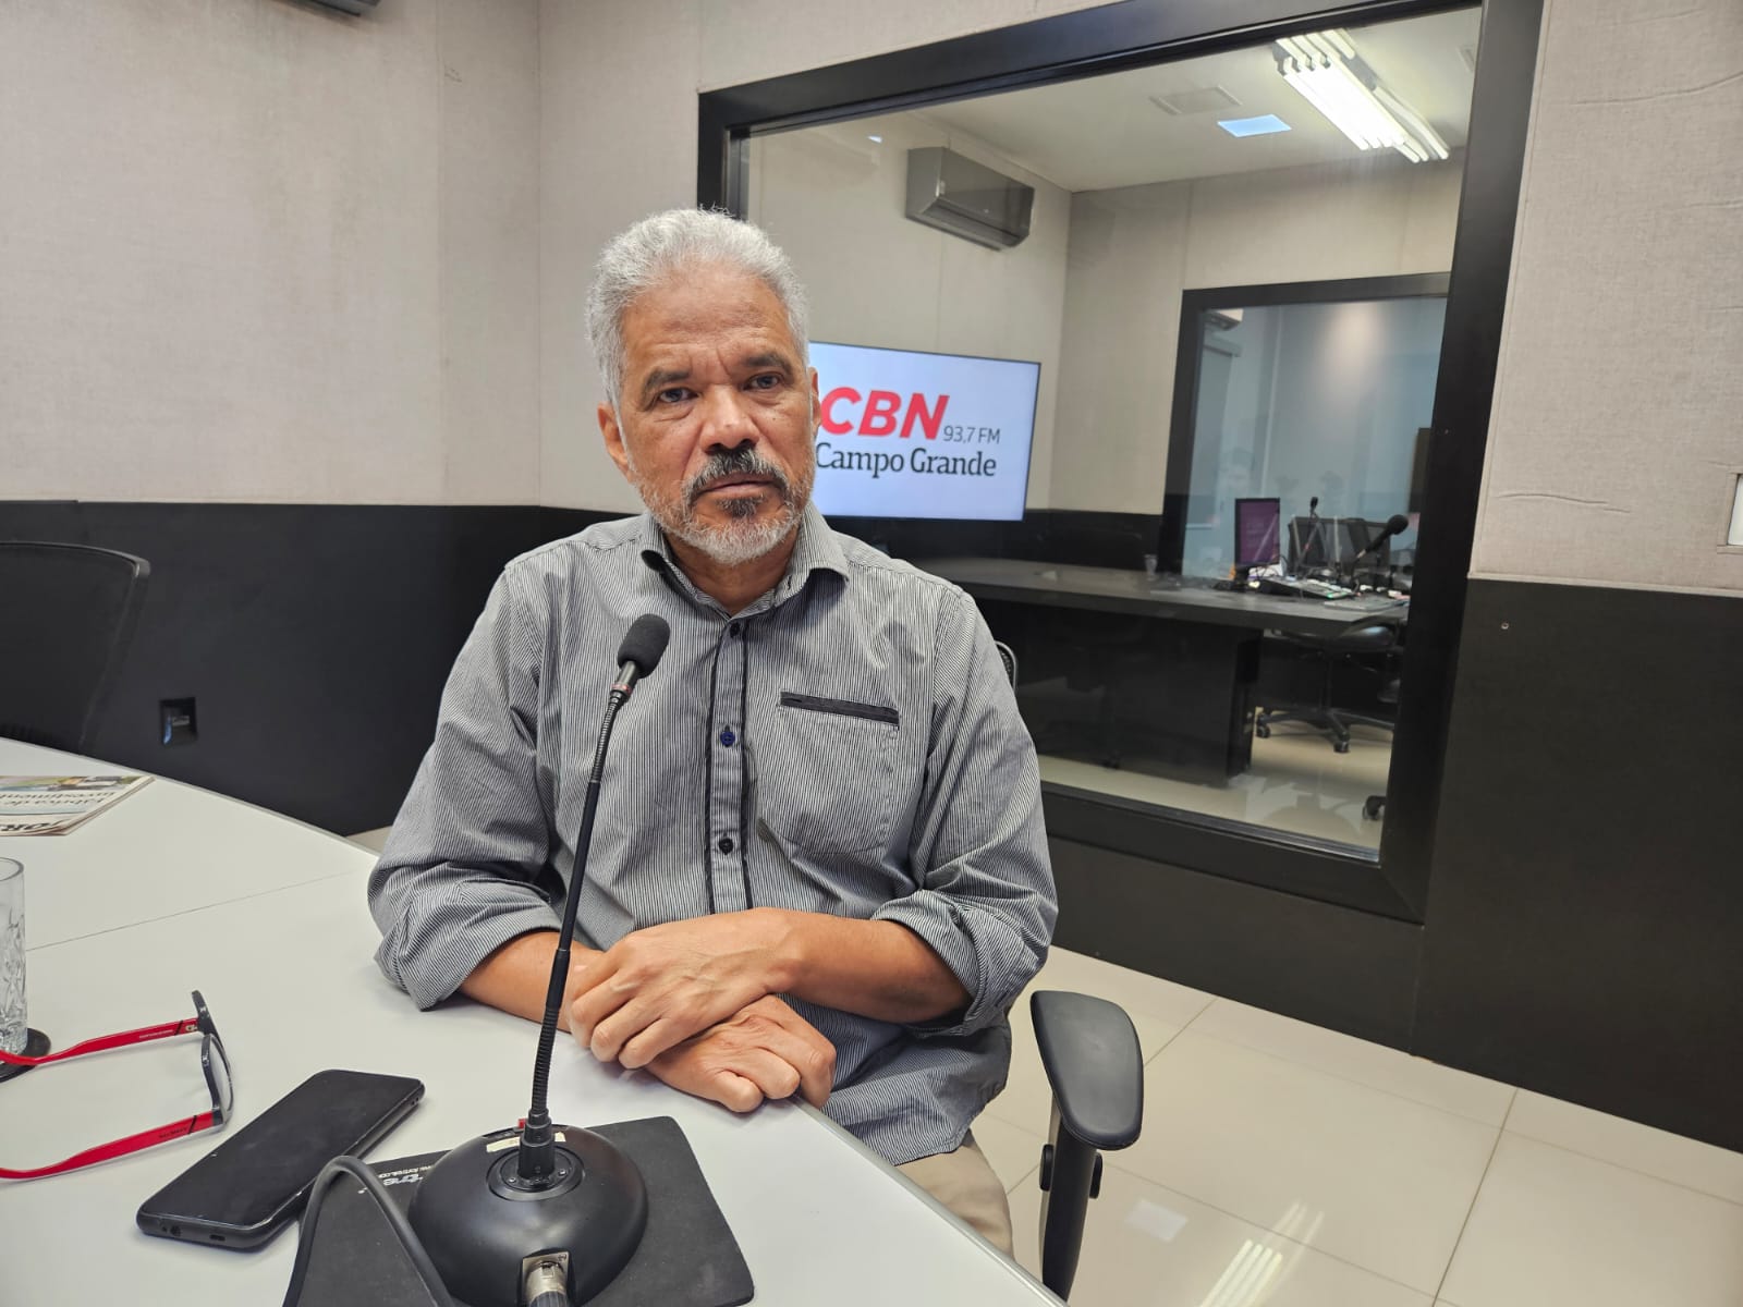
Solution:
{"label": "short curly gray hair on the man's head", "polygon": [[668,209],[622,232],[600,254],[587,295],[587,335],[612,410],[624,385],[624,314],[638,296],[687,268],[729,267],[756,277],[786,308],[798,366],[810,362],[805,288],[781,247],[760,227],[718,209]]}

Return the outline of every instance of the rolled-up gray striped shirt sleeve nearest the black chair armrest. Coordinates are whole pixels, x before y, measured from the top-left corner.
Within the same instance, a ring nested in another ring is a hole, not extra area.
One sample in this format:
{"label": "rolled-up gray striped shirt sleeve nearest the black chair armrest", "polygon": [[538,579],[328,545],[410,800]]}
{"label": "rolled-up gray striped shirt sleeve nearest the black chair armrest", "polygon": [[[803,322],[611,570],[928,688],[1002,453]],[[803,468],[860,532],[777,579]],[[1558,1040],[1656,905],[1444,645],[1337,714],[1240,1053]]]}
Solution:
{"label": "rolled-up gray striped shirt sleeve nearest the black chair armrest", "polygon": [[919,889],[875,920],[924,939],[967,1007],[912,1026],[966,1035],[995,1025],[1048,957],[1058,917],[1035,746],[992,633],[960,591],[945,598],[933,659],[926,786],[910,845]]}

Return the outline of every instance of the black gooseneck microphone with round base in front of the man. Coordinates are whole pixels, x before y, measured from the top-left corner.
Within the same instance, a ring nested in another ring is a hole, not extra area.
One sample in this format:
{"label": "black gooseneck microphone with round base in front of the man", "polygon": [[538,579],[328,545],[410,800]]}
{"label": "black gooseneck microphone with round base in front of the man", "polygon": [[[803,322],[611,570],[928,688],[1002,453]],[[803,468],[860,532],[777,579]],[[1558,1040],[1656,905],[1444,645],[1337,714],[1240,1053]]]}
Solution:
{"label": "black gooseneck microphone with round base in front of the man", "polygon": [[605,749],[619,709],[659,666],[669,638],[662,619],[643,613],[617,648],[617,678],[587,774],[575,870],[539,1025],[532,1107],[519,1140],[514,1131],[497,1131],[462,1143],[436,1162],[411,1199],[411,1229],[443,1283],[472,1307],[525,1307],[533,1295],[544,1307],[547,1300],[561,1302],[563,1291],[570,1302],[593,1298],[624,1269],[647,1229],[647,1187],[634,1162],[593,1131],[554,1126],[546,1094]]}

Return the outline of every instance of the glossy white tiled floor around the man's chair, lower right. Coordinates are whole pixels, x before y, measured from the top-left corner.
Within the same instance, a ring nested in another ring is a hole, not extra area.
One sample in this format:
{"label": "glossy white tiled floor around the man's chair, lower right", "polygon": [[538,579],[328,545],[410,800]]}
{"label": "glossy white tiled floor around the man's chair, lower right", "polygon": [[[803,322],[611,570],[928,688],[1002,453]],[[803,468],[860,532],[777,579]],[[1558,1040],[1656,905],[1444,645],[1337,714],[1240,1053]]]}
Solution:
{"label": "glossy white tiled floor around the man's chair, lower right", "polygon": [[[1121,1004],[1147,1058],[1075,1307],[1743,1307],[1743,1154],[1063,950],[1035,985]],[[974,1133],[1039,1270],[1048,1089],[1018,1009]]]}

